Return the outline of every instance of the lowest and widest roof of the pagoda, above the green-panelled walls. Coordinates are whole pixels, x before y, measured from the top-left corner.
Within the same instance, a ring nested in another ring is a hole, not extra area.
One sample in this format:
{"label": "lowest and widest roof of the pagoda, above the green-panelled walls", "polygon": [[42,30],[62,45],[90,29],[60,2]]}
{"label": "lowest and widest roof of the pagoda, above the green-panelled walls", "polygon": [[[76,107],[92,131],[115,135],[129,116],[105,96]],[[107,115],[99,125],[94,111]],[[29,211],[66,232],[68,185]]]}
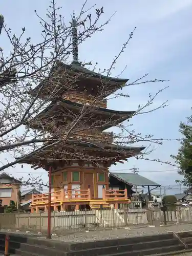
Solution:
{"label": "lowest and widest roof of the pagoda, above the green-panelled walls", "polygon": [[33,153],[17,159],[20,160],[20,163],[36,165],[40,165],[40,163],[48,164],[49,161],[83,160],[83,156],[84,160],[88,161],[88,156],[90,156],[90,160],[94,159],[95,161],[107,161],[107,159],[126,160],[129,157],[142,154],[141,151],[144,148],[144,146],[120,146],[113,143],[92,143],[90,141],[70,139],[63,145],[59,142],[54,143],[54,146],[51,142],[46,143]]}

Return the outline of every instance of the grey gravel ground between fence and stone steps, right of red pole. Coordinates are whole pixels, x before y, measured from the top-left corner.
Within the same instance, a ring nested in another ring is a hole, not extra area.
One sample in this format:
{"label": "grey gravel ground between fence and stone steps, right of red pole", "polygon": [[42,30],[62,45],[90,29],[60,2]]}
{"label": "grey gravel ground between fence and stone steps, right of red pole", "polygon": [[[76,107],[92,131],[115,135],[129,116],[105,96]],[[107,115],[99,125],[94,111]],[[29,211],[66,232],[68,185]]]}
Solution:
{"label": "grey gravel ground between fence and stone steps, right of red pole", "polygon": [[[111,230],[95,230],[75,232],[66,236],[53,236],[53,239],[66,242],[89,242],[96,240],[108,240],[115,238],[129,238],[138,236],[150,236],[153,234],[167,233],[168,231],[189,231],[192,230],[192,224],[179,224],[162,227],[144,227],[144,228],[121,228]],[[190,254],[192,255],[192,253]]]}

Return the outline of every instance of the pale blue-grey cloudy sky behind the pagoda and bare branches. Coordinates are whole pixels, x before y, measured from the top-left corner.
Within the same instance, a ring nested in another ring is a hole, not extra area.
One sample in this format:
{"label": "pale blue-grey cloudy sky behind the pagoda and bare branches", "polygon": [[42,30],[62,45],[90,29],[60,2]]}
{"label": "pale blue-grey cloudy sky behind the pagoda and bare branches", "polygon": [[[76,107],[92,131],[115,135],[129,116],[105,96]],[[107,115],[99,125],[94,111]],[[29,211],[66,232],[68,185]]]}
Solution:
{"label": "pale blue-grey cloudy sky behind the pagoda and bare branches", "polygon": [[[62,14],[68,20],[70,14],[73,11],[78,13],[83,4],[82,0],[56,2],[63,7]],[[155,101],[156,106],[168,100],[169,106],[166,109],[136,116],[132,122],[136,131],[142,134],[150,133],[155,138],[179,138],[179,123],[191,114],[192,105],[192,0],[88,0],[87,6],[95,3],[97,7],[104,7],[101,21],[108,19],[115,11],[116,14],[104,31],[95,34],[80,47],[80,60],[98,62],[101,69],[109,67],[123,42],[134,27],[137,27],[129,46],[119,58],[113,75],[118,75],[127,66],[121,75],[123,78],[134,80],[145,73],[150,73],[150,78],[170,79],[166,84],[153,83],[129,87],[123,91],[130,94],[129,99],[112,100],[108,107],[124,111],[136,110],[139,104],[146,102],[149,93],[154,94],[164,86],[169,86]],[[19,33],[20,28],[25,26],[27,35],[30,35],[33,41],[38,41],[39,27],[34,10],[40,15],[45,15],[48,5],[48,0],[6,0],[0,2],[0,11],[15,33]],[[8,50],[4,36],[2,33],[1,47]],[[166,142],[150,157],[173,162],[169,156],[177,154],[178,147],[178,142]],[[173,166],[138,161],[134,158],[111,169],[126,172],[126,169],[134,166],[139,168],[141,175],[163,186],[174,185],[175,180],[181,178],[177,171],[173,170]],[[164,172],[166,170],[169,172]],[[35,173],[27,165],[23,169],[17,165],[15,168],[9,168],[7,172],[15,177],[25,177],[22,173]],[[45,173],[39,169],[36,172]],[[43,177],[46,179],[47,175],[44,174]]]}

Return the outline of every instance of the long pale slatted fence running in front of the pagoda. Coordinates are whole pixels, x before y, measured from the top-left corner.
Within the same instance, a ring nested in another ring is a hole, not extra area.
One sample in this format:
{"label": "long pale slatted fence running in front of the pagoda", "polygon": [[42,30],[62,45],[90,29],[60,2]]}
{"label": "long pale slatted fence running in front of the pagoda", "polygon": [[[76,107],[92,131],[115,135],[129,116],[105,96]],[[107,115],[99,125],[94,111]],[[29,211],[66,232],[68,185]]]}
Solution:
{"label": "long pale slatted fence running in front of the pagoda", "polygon": [[[166,212],[167,223],[192,222],[192,208],[177,207]],[[57,233],[66,229],[160,225],[164,222],[160,209],[102,209],[52,212],[51,228]],[[0,214],[0,226],[7,229],[46,231],[47,212],[36,214]]]}

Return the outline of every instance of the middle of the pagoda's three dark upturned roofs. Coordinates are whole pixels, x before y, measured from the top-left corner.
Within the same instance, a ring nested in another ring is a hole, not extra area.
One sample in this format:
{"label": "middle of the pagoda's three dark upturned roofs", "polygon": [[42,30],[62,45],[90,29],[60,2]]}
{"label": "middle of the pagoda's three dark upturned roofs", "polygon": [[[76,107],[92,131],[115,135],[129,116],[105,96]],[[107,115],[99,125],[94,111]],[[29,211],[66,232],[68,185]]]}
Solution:
{"label": "middle of the pagoda's three dark upturned roofs", "polygon": [[[34,129],[42,129],[41,127],[45,126],[45,129],[46,129],[46,125],[48,124],[48,121],[51,121],[53,119],[54,121],[58,121],[58,122],[62,121],[63,123],[64,117],[68,117],[68,119],[70,119],[71,111],[73,111],[76,115],[78,115],[79,111],[81,111],[81,108],[83,106],[84,104],[72,102],[70,100],[61,99],[61,98],[56,99],[52,101],[51,104],[47,106],[47,108],[44,111],[42,111],[36,117],[31,119],[29,121],[28,126]],[[53,114],[54,112],[56,113],[56,115]],[[103,131],[103,130],[109,129],[112,126],[117,125],[118,123],[125,121],[126,119],[132,118],[134,114],[135,114],[135,111],[116,111],[116,110],[110,110],[110,109],[93,106],[93,108],[90,108],[88,112],[89,116],[87,117],[87,122],[90,123],[90,120],[94,121],[98,119],[98,117],[100,117],[100,123],[98,121],[98,126],[100,125],[99,129]],[[86,119],[83,119],[84,122],[85,120]]]}

